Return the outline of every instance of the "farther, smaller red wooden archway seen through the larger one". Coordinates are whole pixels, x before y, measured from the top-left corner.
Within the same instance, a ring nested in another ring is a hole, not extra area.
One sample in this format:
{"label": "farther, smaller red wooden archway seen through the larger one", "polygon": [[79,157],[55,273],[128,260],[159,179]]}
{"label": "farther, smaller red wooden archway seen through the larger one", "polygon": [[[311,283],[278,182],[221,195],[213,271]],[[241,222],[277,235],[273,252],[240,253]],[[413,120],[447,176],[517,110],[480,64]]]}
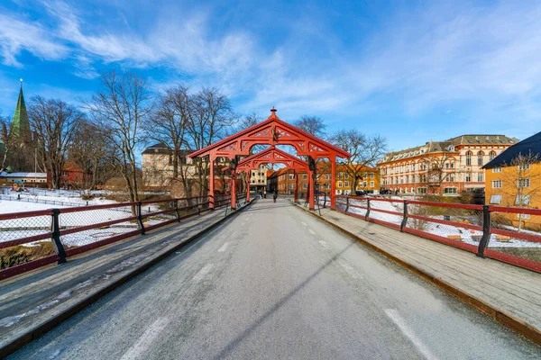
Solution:
{"label": "farther, smaller red wooden archway seen through the larger one", "polygon": [[[261,152],[253,154],[250,157],[246,157],[241,160],[236,166],[236,172],[245,171],[247,174],[248,186],[250,186],[250,175],[252,174],[251,170],[259,169],[261,164],[283,164],[289,170],[295,171],[295,198],[294,201],[298,201],[298,172],[299,171],[309,171],[308,164],[306,161],[301,160],[298,157],[294,157],[291,154],[288,154],[285,151],[280,150],[280,148],[266,148]],[[226,166],[224,170],[230,169],[230,166]],[[250,188],[248,188],[250,189]],[[250,190],[246,193],[246,200],[250,201]]]}

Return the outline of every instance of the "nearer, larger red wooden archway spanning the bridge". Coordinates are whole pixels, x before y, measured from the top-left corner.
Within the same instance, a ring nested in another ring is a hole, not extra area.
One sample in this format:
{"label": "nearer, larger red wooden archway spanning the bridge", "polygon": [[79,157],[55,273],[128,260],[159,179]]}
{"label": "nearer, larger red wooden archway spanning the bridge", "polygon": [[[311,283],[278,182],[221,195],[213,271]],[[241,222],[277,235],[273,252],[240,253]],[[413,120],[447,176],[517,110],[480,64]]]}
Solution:
{"label": "nearer, larger red wooden archway spanning the bridge", "polygon": [[[347,151],[337,148],[328,142],[316,138],[314,135],[298,129],[286,121],[280,120],[276,115],[276,109],[271,109],[271,116],[252,127],[237,132],[225,139],[201,148],[189,155],[189,157],[209,157],[210,167],[209,196],[210,206],[214,207],[214,161],[216,157],[228,157],[230,159],[239,156],[250,155],[250,148],[254,145],[290,145],[297,149],[298,156],[328,158],[331,162],[331,208],[335,209],[335,172],[336,157],[351,157]],[[232,207],[236,203],[235,181],[236,171],[232,171],[231,202]],[[314,170],[309,169],[310,210],[314,210]]]}

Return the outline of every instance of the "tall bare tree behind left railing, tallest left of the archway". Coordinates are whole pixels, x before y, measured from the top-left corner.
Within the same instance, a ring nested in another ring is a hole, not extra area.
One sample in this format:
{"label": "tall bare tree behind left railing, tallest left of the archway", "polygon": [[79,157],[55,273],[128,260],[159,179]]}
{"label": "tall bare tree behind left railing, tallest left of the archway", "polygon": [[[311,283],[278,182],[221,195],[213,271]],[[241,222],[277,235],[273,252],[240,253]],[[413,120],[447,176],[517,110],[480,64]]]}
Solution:
{"label": "tall bare tree behind left railing, tallest left of the archway", "polygon": [[118,155],[109,160],[124,177],[130,201],[138,201],[139,171],[135,150],[142,142],[142,122],[148,120],[151,112],[149,85],[133,72],[110,71],[101,76],[101,89],[86,107],[106,144]]}

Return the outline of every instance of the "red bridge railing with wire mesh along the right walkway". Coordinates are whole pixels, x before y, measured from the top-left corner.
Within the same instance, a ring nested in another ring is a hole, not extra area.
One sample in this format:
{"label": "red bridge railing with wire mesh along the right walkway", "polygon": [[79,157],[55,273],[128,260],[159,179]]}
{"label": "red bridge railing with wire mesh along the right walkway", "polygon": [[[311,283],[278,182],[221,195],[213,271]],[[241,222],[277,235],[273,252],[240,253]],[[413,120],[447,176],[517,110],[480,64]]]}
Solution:
{"label": "red bridge railing with wire mesh along the right walkway", "polygon": [[541,272],[541,210],[336,196],[336,211]]}

